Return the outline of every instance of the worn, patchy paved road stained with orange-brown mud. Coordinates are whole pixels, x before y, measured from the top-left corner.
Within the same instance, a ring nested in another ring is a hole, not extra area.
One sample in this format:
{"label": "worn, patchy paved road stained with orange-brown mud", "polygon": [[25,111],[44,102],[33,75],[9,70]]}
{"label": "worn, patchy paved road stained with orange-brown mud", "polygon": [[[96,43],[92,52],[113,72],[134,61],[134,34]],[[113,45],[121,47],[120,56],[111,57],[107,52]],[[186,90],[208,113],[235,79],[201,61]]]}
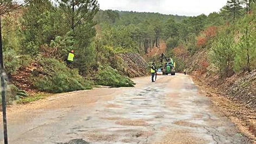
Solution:
{"label": "worn, patchy paved road stained with orange-brown mud", "polygon": [[10,144],[249,143],[189,76],[134,81],[134,88],[95,88],[9,108]]}

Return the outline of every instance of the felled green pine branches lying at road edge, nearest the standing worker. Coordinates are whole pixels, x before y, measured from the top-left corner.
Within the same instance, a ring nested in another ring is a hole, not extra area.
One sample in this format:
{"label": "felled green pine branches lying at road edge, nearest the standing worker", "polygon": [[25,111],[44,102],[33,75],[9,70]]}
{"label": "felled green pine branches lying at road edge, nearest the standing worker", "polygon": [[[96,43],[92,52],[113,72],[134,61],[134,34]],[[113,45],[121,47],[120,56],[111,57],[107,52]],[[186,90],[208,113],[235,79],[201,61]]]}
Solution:
{"label": "felled green pine branches lying at road edge, nearest the standing worker", "polygon": [[132,87],[135,85],[128,77],[122,76],[117,70],[111,66],[99,68],[99,72],[96,75],[98,85],[113,86],[113,87]]}

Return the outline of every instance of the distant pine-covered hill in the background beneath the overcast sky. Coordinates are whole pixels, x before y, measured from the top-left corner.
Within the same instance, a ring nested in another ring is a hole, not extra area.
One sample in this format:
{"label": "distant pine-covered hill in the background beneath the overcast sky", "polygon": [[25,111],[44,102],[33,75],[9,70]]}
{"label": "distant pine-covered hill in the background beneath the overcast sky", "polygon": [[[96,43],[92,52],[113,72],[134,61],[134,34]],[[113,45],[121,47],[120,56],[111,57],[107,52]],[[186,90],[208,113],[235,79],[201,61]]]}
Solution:
{"label": "distant pine-covered hill in the background beneath the overcast sky", "polygon": [[[161,38],[167,39],[172,31],[177,30],[175,20],[182,21],[186,18],[159,13],[112,10],[100,10],[95,15],[101,28],[98,35],[104,45],[137,51],[141,55],[147,54],[154,46],[158,47]],[[172,26],[175,27],[174,30],[170,29]],[[175,32],[177,34],[177,31]]]}

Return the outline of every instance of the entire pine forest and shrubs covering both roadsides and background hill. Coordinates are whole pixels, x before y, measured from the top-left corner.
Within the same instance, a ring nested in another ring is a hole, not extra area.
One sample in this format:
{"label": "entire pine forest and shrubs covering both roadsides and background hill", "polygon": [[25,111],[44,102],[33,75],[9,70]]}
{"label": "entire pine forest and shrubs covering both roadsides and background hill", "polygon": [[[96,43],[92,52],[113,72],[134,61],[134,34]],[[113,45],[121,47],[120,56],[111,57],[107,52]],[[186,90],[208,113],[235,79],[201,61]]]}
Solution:
{"label": "entire pine forest and shrubs covering both roadsides and background hill", "polygon": [[[254,0],[228,0],[219,12],[194,17],[99,10],[99,5],[97,0],[30,0],[0,15],[10,101],[23,88],[61,93],[94,85],[133,86],[120,57],[127,53],[150,64],[159,62],[157,49],[162,49],[182,71],[204,51],[201,72],[221,79],[256,67]],[[67,66],[71,49],[75,61]]]}

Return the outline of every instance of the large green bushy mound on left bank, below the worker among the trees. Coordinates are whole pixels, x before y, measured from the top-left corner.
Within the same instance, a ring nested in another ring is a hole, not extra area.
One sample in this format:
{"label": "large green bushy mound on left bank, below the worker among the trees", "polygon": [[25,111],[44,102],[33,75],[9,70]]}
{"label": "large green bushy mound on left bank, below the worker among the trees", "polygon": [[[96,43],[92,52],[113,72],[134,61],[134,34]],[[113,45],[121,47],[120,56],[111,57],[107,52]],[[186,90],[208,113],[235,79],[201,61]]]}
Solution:
{"label": "large green bushy mound on left bank, below the worker among the trees", "polygon": [[63,93],[92,88],[92,83],[79,75],[78,70],[70,70],[64,62],[54,58],[40,60],[43,71],[47,73],[35,81],[35,86],[49,93]]}

